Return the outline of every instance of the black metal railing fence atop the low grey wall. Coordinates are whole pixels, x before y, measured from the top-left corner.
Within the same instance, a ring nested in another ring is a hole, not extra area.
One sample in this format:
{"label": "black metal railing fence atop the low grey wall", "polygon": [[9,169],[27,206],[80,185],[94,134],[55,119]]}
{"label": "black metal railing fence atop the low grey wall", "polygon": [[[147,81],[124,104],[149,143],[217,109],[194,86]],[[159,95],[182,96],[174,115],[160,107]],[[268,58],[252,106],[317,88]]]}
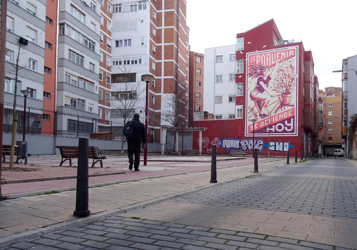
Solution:
{"label": "black metal railing fence atop the low grey wall", "polygon": [[[4,132],[11,132],[13,110],[11,104],[4,104]],[[24,127],[24,107],[16,106],[17,133]],[[122,140],[123,122],[101,120],[55,110],[26,108],[25,133],[68,137],[88,137],[91,139]]]}

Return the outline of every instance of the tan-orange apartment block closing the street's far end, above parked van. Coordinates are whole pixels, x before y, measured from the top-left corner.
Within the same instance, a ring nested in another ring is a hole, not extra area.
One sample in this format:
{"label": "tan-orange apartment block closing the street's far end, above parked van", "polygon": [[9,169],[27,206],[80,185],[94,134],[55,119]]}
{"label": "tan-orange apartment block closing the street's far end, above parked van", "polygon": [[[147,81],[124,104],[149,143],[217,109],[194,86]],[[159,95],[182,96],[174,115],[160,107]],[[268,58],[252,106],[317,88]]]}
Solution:
{"label": "tan-orange apartment block closing the street's far end, above parked van", "polygon": [[325,127],[326,137],[324,144],[325,155],[335,149],[342,149],[342,88],[325,88]]}

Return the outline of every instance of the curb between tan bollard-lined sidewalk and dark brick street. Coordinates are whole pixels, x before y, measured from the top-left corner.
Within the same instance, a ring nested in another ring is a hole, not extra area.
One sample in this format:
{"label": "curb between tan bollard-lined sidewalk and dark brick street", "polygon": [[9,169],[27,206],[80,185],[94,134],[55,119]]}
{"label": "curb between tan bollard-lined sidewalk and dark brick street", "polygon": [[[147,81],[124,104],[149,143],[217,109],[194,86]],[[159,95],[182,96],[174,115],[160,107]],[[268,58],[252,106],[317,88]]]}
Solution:
{"label": "curb between tan bollard-lined sidewalk and dark brick street", "polygon": [[[294,162],[293,164],[297,164],[297,163]],[[292,164],[290,164],[290,165],[292,165]],[[276,166],[276,168],[280,168],[280,167],[284,167],[284,166],[286,166],[286,164],[281,165],[281,166]],[[228,167],[224,167],[224,168],[228,168]],[[276,168],[267,170],[265,172],[275,170]],[[210,170],[208,170],[208,171],[210,171]],[[203,171],[200,171],[200,172],[203,172]],[[250,176],[252,176],[252,175],[259,175],[259,173],[251,173]],[[145,178],[145,179],[147,179],[147,178]],[[131,210],[138,209],[138,208],[140,208],[142,206],[150,206],[150,205],[162,202],[162,201],[166,201],[166,200],[169,200],[169,199],[173,199],[173,198],[176,198],[176,197],[179,197],[179,196],[182,196],[182,195],[190,194],[192,192],[200,191],[200,190],[203,190],[203,189],[208,189],[208,188],[215,187],[215,186],[218,186],[218,185],[223,185],[223,184],[226,184],[226,183],[229,183],[229,182],[232,182],[232,181],[235,181],[235,180],[240,180],[240,179],[245,179],[245,176],[241,176],[241,177],[238,177],[238,178],[232,178],[232,179],[225,180],[225,181],[222,181],[222,182],[217,182],[217,183],[210,183],[210,182],[207,181],[208,182],[207,185],[201,186],[201,187],[197,187],[195,189],[178,192],[178,193],[171,194],[171,195],[162,196],[162,197],[159,197],[159,198],[156,198],[156,199],[152,199],[152,200],[148,200],[148,201],[139,202],[139,203],[136,203],[136,204],[133,204],[133,205],[121,207],[120,209],[112,209],[112,210],[108,210],[108,211],[104,211],[104,212],[99,212],[97,214],[91,214],[90,216],[88,216],[86,218],[74,218],[74,219],[69,220],[69,221],[64,221],[64,222],[60,222],[60,223],[53,224],[53,225],[50,225],[50,226],[46,226],[45,228],[39,228],[39,229],[26,231],[26,232],[23,232],[23,233],[20,233],[20,234],[13,234],[13,235],[5,236],[5,237],[0,238],[0,245],[2,245],[2,246],[12,245],[14,243],[26,241],[26,240],[29,240],[29,239],[32,239],[32,238],[35,238],[35,237],[39,237],[39,236],[47,234],[47,233],[51,233],[52,231],[55,231],[55,230],[68,228],[69,226],[74,225],[74,224],[75,225],[81,225],[81,224],[91,223],[92,221],[95,221],[99,217],[101,217],[103,219],[106,219],[106,218],[109,218],[109,217],[111,217],[112,215],[115,215],[115,214],[121,214],[123,212],[129,212]]]}

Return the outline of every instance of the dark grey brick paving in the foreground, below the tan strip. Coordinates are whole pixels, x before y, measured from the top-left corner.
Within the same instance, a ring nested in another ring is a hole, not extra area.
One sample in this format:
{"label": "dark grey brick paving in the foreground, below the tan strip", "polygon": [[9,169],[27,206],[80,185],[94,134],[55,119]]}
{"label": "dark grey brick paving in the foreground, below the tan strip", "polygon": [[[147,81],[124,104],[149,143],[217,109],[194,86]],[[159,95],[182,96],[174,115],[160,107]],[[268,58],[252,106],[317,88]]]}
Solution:
{"label": "dark grey brick paving in the foreground, below the tan strip", "polygon": [[236,230],[190,226],[162,221],[112,216],[92,224],[70,227],[28,241],[13,244],[14,249],[107,249],[107,250],[347,250]]}

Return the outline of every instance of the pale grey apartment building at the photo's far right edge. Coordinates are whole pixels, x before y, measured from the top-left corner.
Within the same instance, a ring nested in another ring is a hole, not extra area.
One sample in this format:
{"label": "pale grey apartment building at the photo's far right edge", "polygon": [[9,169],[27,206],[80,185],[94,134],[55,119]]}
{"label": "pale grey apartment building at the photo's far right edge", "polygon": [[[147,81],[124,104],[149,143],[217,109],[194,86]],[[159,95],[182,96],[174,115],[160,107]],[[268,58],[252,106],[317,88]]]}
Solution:
{"label": "pale grey apartment building at the photo's far right edge", "polygon": [[[342,60],[342,139],[345,140],[345,154],[351,157],[351,136],[349,131],[351,117],[357,113],[355,93],[357,88],[357,55]],[[348,98],[350,93],[350,98]],[[352,98],[351,98],[352,96]]]}

